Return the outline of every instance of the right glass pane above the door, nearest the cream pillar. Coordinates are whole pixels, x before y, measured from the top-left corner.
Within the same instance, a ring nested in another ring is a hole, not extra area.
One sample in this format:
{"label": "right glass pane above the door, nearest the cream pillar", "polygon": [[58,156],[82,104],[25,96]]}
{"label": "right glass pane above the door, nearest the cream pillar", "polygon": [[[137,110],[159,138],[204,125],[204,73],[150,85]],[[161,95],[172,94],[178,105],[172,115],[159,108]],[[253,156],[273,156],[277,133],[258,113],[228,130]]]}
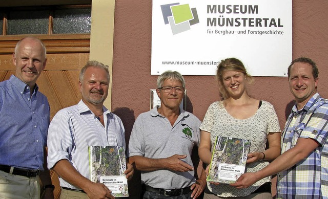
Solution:
{"label": "right glass pane above the door, nearest the cream pillar", "polygon": [[56,10],[53,16],[53,34],[91,32],[91,8]]}

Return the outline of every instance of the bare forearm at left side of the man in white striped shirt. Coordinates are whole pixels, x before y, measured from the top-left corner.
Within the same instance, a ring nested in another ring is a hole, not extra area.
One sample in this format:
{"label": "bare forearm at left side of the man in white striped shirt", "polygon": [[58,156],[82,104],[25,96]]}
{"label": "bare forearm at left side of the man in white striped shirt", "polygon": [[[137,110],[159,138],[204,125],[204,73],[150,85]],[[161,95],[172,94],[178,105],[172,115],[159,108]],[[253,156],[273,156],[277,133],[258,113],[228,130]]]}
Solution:
{"label": "bare forearm at left side of the man in white striped shirt", "polygon": [[66,159],[59,160],[53,167],[53,170],[58,176],[60,176],[60,178],[83,190],[85,190],[88,187],[88,184],[91,183],[89,179],[81,175]]}

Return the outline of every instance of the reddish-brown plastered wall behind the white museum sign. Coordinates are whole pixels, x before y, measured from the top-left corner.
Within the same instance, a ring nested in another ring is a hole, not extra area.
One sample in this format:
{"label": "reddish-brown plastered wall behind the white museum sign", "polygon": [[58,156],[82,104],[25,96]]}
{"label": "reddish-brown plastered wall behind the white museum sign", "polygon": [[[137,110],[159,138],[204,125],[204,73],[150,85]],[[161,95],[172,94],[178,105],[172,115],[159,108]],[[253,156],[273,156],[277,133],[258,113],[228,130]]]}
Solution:
{"label": "reddish-brown plastered wall behind the white museum sign", "polygon": [[[326,0],[293,1],[293,59],[304,56],[317,63],[318,92],[325,98],[328,98],[327,9]],[[127,142],[135,118],[150,109],[150,89],[156,88],[157,76],[150,75],[151,23],[151,0],[116,0],[111,109],[124,122]],[[199,49],[199,53],[202,53],[202,49]],[[288,65],[285,67],[287,71]],[[188,90],[187,110],[202,120],[208,106],[219,100],[217,81],[214,76],[185,76],[185,79]],[[288,79],[255,77],[254,84],[249,86],[249,94],[271,102],[283,128],[286,116],[294,104]]]}

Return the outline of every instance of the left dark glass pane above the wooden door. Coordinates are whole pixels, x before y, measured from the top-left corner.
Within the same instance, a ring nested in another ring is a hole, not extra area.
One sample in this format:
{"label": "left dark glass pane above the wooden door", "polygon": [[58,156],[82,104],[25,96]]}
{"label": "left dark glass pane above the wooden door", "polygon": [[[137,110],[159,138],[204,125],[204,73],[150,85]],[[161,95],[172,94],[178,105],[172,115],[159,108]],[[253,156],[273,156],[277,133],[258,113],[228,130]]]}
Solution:
{"label": "left dark glass pane above the wooden door", "polygon": [[10,11],[7,35],[48,34],[49,10]]}

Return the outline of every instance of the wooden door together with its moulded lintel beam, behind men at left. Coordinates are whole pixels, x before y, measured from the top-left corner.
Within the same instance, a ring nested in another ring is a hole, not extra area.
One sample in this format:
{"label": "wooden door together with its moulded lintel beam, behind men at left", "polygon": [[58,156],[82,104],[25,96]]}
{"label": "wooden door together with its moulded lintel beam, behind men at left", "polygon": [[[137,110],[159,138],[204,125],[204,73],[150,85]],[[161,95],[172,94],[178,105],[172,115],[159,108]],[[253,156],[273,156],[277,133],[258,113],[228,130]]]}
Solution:
{"label": "wooden door together with its moulded lintel beam, behind men at left", "polygon": [[[47,64],[37,79],[39,91],[45,94],[50,104],[50,118],[58,110],[77,104],[81,99],[78,89],[80,69],[89,60],[90,35],[38,36],[47,48]],[[0,41],[0,81],[15,74],[12,60],[15,44],[20,38],[4,37]],[[55,185],[55,198],[60,196],[58,176],[50,170]]]}

